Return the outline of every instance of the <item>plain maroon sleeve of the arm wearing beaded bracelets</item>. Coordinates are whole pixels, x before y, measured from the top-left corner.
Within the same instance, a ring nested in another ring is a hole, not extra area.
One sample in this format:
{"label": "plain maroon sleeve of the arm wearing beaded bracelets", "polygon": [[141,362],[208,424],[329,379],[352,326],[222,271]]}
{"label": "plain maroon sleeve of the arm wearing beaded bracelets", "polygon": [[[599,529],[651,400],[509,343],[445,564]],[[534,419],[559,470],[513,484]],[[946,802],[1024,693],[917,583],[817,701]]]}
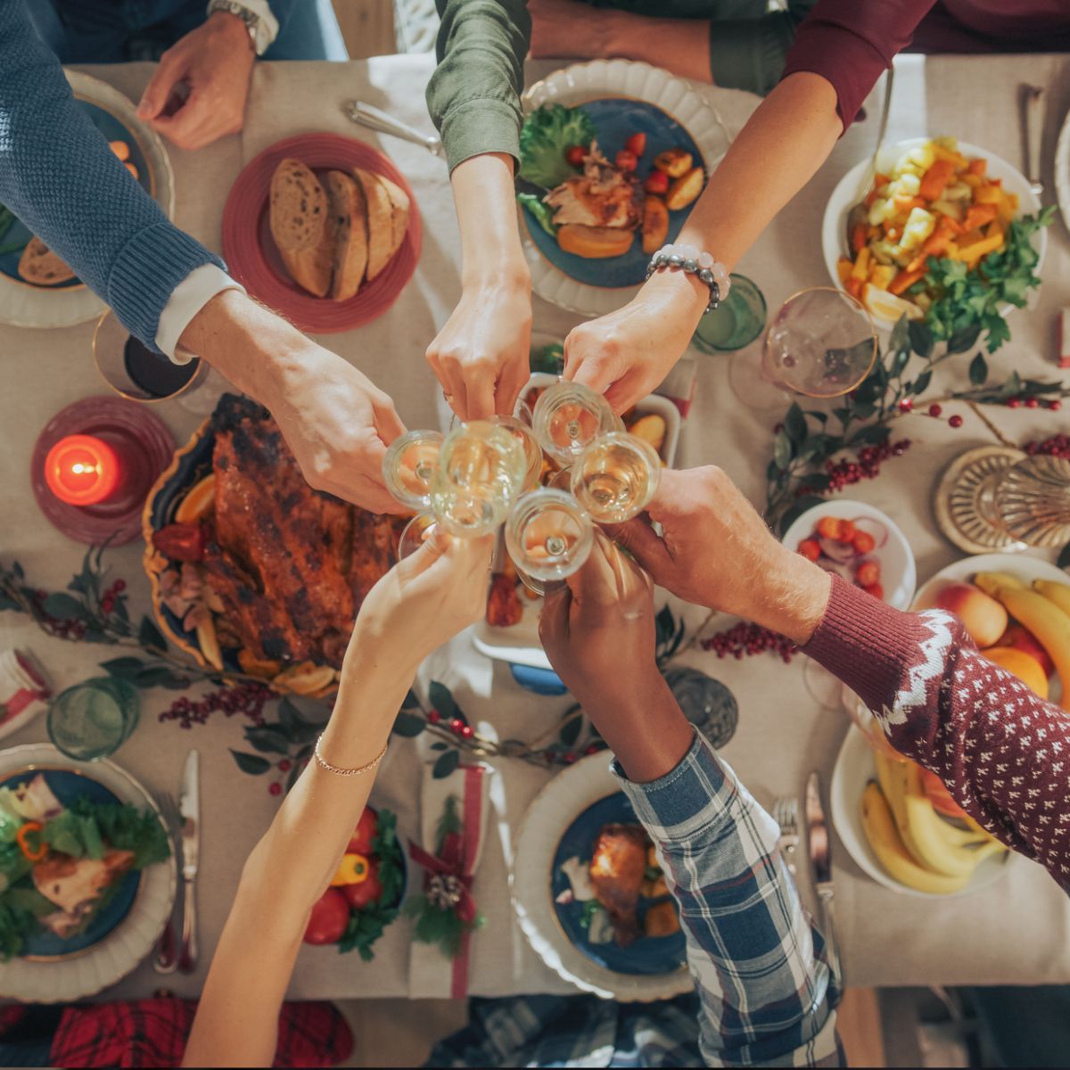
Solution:
{"label": "plain maroon sleeve of the arm wearing beaded bracelets", "polygon": [[784,73],[820,74],[836,90],[846,129],[881,73],[936,0],[819,0],[795,31]]}

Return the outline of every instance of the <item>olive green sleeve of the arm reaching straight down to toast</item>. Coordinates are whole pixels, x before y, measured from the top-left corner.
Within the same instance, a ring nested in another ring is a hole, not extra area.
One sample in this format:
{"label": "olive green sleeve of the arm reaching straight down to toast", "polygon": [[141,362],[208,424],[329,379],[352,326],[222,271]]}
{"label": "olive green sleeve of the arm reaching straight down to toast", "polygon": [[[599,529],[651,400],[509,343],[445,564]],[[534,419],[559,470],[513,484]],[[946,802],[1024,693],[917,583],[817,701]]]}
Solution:
{"label": "olive green sleeve of the arm reaching straight down to toast", "polygon": [[452,171],[485,152],[520,157],[526,0],[435,0],[442,26],[427,109]]}

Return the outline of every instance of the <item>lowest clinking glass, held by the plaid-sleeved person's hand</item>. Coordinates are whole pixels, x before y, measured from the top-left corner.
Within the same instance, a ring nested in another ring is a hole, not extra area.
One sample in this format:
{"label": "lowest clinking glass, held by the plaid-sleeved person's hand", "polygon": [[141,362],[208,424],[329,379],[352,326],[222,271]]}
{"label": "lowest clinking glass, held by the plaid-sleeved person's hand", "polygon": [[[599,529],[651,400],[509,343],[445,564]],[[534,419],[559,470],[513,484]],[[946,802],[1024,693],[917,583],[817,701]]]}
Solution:
{"label": "lowest clinking glass, held by the plaid-sleeved person's hand", "polygon": [[524,585],[535,594],[583,566],[594,524],[567,491],[542,487],[522,494],[505,523],[505,548]]}

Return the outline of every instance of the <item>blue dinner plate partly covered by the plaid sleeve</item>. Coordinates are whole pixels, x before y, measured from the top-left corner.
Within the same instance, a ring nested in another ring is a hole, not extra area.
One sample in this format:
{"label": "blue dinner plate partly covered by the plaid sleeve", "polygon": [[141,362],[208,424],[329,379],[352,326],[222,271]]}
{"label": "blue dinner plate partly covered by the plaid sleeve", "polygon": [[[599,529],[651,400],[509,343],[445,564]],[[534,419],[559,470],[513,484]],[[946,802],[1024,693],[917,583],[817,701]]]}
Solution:
{"label": "blue dinner plate partly covered by the plaid sleeve", "polygon": [[[557,920],[565,935],[593,962],[618,974],[669,974],[684,964],[683,932],[675,932],[671,936],[641,936],[630,947],[620,947],[616,943],[592,944],[587,939],[587,930],[580,923],[584,915],[584,904],[556,902],[557,897],[570,887],[568,877],[561,868],[564,862],[577,857],[584,862],[590,861],[595,840],[603,825],[639,823],[631,802],[623,792],[588,806],[568,826],[557,844],[551,871],[551,895]],[[645,905],[644,901],[640,900],[640,927]]]}

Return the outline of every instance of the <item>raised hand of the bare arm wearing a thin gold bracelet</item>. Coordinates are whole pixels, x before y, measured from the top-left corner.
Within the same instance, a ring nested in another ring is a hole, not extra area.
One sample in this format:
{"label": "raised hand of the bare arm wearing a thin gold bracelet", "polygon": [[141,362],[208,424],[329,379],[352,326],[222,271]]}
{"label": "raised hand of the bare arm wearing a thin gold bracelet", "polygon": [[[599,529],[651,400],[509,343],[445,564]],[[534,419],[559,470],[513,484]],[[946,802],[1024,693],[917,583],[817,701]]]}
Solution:
{"label": "raised hand of the bare arm wearing a thin gold bracelet", "polygon": [[493,535],[455,538],[441,525],[430,529],[424,545],[364,599],[346,660],[373,656],[377,664],[382,660],[415,671],[483,616],[493,548]]}

